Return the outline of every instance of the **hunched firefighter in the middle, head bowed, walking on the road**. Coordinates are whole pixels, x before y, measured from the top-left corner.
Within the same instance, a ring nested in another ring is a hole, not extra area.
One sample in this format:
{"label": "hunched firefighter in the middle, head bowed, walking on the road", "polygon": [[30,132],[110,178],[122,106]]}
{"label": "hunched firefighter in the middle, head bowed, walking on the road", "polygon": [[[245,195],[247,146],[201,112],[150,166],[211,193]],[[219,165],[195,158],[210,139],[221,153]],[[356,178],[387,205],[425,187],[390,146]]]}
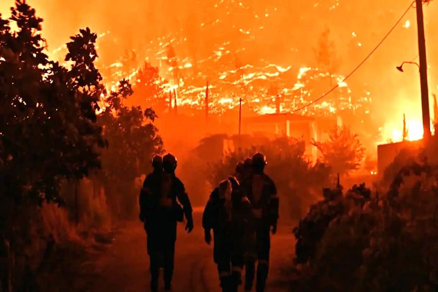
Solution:
{"label": "hunched firefighter in the middle, head bowed, walking on the road", "polygon": [[241,284],[245,256],[244,235],[251,219],[251,203],[242,196],[237,179],[230,176],[220,182],[205,206],[202,227],[207,244],[211,242],[210,231],[213,229],[213,259],[218,265],[223,292],[237,292]]}

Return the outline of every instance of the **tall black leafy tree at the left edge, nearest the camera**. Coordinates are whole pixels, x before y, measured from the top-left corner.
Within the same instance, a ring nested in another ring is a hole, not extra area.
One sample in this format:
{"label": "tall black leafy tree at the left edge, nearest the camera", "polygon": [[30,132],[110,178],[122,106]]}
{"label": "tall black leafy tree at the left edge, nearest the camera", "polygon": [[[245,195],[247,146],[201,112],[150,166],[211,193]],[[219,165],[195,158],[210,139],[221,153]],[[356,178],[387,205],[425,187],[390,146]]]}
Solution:
{"label": "tall black leafy tree at the left edge, nearest the camera", "polygon": [[[17,200],[59,200],[62,179],[81,179],[100,167],[98,147],[105,146],[95,123],[96,88],[101,80],[89,52],[93,34],[81,30],[69,43],[67,69],[44,53],[41,18],[17,1],[8,21],[1,20],[0,43],[18,62],[0,61],[1,171],[5,195]],[[79,49],[87,43],[87,49]]]}

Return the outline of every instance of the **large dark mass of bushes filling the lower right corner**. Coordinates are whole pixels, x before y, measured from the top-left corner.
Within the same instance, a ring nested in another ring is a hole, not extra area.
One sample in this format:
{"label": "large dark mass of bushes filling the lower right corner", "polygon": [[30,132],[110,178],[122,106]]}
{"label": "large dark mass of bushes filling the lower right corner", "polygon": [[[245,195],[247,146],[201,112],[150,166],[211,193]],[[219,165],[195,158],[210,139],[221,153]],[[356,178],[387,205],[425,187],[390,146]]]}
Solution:
{"label": "large dark mass of bushes filling the lower right corner", "polygon": [[438,168],[417,163],[380,198],[361,185],[312,206],[294,230],[297,290],[437,291],[437,183]]}

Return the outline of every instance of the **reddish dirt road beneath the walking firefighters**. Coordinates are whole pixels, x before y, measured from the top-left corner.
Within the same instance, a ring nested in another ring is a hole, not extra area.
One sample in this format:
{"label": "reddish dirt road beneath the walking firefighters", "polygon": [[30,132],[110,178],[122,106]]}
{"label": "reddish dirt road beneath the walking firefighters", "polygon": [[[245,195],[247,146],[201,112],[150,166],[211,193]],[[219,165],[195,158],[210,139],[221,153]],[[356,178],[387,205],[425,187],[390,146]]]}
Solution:
{"label": "reddish dirt road beneath the walking firefighters", "polygon": [[[187,234],[184,231],[183,223],[178,227],[175,274],[172,282],[175,292],[220,291],[217,268],[213,263],[213,246],[208,246],[203,240],[201,211],[201,208],[195,209],[195,228],[192,233]],[[281,287],[281,278],[284,278],[281,268],[292,261],[291,231],[291,226],[279,226],[277,234],[272,237],[267,291],[289,291],[287,287]],[[88,264],[93,266],[92,274],[96,276],[88,281],[88,287],[84,287],[87,291],[149,291],[149,259],[142,224],[130,222],[120,228],[114,236],[113,243],[102,256]],[[162,275],[160,287],[163,289]]]}

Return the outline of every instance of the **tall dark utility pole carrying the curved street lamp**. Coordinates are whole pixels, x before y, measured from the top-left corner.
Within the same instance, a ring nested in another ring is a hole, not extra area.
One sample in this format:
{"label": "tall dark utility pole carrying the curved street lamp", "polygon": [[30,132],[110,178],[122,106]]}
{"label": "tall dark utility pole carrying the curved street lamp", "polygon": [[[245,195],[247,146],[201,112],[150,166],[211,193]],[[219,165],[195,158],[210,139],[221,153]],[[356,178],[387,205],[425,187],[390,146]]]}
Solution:
{"label": "tall dark utility pole carrying the curved street lamp", "polygon": [[417,9],[418,53],[420,56],[420,84],[421,84],[421,110],[423,113],[423,142],[427,143],[431,137],[429,90],[427,88],[427,62],[426,40],[424,37],[423,0],[415,0]]}

